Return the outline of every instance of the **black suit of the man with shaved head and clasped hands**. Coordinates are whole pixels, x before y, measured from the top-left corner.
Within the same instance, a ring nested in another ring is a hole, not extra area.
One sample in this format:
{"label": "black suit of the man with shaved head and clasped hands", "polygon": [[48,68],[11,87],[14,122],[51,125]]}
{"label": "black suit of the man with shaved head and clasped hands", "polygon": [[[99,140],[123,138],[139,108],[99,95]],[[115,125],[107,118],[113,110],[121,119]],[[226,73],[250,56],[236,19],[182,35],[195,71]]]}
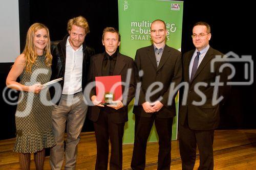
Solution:
{"label": "black suit of the man with shaved head and clasped hands", "polygon": [[[172,139],[173,117],[176,115],[175,100],[168,105],[170,83],[177,86],[182,79],[181,53],[172,47],[165,45],[159,66],[157,66],[154,45],[140,48],[136,52],[135,64],[137,73],[143,70],[144,75],[137,77],[141,82],[141,90],[138,106],[134,106],[135,116],[135,140],[131,167],[133,169],[145,168],[145,151],[148,135],[153,123],[159,136],[158,169],[170,167],[170,141]],[[151,96],[151,102],[155,102],[160,96],[164,106],[154,113],[146,113],[142,107],[146,101],[146,90],[154,82],[161,82],[163,89]],[[136,101],[137,102],[137,101]]]}

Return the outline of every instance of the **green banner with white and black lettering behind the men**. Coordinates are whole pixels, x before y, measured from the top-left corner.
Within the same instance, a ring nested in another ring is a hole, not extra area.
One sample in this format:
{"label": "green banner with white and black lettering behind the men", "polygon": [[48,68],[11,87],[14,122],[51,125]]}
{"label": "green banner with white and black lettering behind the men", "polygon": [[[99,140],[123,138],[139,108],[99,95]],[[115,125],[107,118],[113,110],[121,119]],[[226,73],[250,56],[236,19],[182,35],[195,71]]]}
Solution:
{"label": "green banner with white and black lettering behind the men", "polygon": [[[135,57],[138,48],[151,45],[150,26],[156,19],[165,21],[166,44],[181,51],[183,2],[166,0],[118,0],[119,32],[121,34],[120,53]],[[145,72],[146,74],[146,72]],[[133,103],[129,105],[129,121],[124,127],[123,143],[134,142],[135,116]],[[178,96],[176,96],[177,116],[174,118],[172,139],[177,139]],[[158,141],[153,127],[148,141]]]}

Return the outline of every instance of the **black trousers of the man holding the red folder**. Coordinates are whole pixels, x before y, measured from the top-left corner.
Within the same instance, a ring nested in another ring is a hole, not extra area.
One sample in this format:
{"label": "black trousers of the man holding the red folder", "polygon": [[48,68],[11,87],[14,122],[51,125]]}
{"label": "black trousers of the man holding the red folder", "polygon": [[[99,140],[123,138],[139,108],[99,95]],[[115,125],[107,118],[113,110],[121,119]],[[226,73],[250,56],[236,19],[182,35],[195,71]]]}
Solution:
{"label": "black trousers of the man holding the red folder", "polygon": [[109,139],[111,142],[110,169],[122,169],[122,138],[124,123],[111,122],[108,109],[100,111],[94,130],[97,143],[97,158],[95,169],[108,169]]}

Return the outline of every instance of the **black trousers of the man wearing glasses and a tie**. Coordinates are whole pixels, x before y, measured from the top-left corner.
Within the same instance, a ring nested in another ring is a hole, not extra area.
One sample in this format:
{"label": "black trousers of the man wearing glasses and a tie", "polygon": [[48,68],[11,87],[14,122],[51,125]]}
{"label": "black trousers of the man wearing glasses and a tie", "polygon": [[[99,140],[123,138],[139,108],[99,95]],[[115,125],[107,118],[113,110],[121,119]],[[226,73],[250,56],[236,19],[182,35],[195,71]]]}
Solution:
{"label": "black trousers of the man wearing glasses and a tie", "polygon": [[193,170],[196,161],[196,149],[200,154],[199,170],[214,169],[214,130],[191,130],[187,123],[179,125],[179,144],[183,170]]}

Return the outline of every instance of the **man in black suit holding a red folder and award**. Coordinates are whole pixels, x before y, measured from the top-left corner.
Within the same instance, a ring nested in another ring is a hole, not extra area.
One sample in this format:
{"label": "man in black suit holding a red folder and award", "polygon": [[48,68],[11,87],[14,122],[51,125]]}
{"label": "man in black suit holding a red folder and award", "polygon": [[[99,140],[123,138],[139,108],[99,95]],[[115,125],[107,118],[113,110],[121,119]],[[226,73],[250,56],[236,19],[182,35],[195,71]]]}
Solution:
{"label": "man in black suit holding a red folder and award", "polygon": [[[122,138],[124,123],[128,120],[127,105],[135,94],[134,61],[117,51],[120,34],[115,28],[104,29],[102,44],[105,52],[92,57],[90,68],[92,81],[96,81],[96,88],[91,92],[91,100],[95,106],[89,113],[89,118],[94,122],[97,143],[95,169],[108,169],[109,138],[110,169],[122,169]],[[101,85],[105,87],[103,89],[121,83],[120,81],[125,82],[125,85],[110,87],[117,89],[114,92],[102,91],[97,85],[98,81],[102,82]]]}

